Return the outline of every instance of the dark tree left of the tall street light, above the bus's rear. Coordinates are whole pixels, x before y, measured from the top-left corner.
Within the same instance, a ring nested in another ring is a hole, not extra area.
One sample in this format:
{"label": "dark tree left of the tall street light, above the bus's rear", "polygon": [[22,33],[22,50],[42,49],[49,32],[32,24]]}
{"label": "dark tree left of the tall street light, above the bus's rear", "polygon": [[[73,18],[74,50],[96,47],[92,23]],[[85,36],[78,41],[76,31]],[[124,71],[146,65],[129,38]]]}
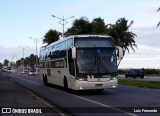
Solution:
{"label": "dark tree left of the tall street light, above the bus's rear", "polygon": [[59,36],[61,35],[60,32],[56,30],[50,29],[44,36],[43,43],[47,43],[47,45],[57,41]]}

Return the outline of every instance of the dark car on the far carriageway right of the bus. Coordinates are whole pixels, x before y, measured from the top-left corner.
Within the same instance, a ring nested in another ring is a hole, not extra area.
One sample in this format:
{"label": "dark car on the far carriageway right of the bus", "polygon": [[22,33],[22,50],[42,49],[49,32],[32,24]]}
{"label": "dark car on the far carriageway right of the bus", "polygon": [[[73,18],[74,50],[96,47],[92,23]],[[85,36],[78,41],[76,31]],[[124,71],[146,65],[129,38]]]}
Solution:
{"label": "dark car on the far carriageway right of the bus", "polygon": [[130,69],[126,74],[125,77],[141,77],[142,79],[144,78],[144,72],[140,69]]}

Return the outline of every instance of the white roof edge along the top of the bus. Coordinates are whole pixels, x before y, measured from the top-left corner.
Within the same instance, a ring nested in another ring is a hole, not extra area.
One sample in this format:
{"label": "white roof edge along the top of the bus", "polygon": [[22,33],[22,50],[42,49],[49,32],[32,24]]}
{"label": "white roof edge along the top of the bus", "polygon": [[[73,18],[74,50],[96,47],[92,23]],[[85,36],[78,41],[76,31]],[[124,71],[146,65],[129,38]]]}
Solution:
{"label": "white roof edge along the top of the bus", "polygon": [[57,43],[60,43],[60,42],[63,42],[63,41],[65,41],[65,40],[68,40],[68,39],[71,39],[71,38],[75,38],[75,37],[108,37],[108,38],[112,38],[112,37],[109,36],[109,35],[94,35],[94,34],[90,34],[90,35],[89,35],[89,34],[86,34],[86,35],[70,35],[70,36],[68,36],[68,37],[59,39],[58,41],[55,41],[55,42],[51,43],[50,45],[43,46],[43,47],[41,47],[40,49],[43,50],[43,49],[48,48],[48,47],[50,47],[50,46],[53,46],[53,45],[55,45],[55,44],[57,44]]}

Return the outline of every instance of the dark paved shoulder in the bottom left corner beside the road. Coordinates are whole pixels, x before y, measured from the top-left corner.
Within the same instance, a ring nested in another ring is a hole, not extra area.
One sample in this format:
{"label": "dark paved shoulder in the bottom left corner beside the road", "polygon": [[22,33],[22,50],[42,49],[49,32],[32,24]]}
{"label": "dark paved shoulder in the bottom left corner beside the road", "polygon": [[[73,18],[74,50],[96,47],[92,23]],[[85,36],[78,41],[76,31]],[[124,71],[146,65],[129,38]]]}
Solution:
{"label": "dark paved shoulder in the bottom left corner beside the road", "polygon": [[[57,113],[53,107],[50,107],[45,101],[36,97],[34,94],[25,90],[22,86],[18,85],[11,79],[0,75],[0,108],[1,113],[14,115],[21,113],[25,115],[40,115],[50,116]],[[7,109],[8,108],[8,111]],[[10,111],[11,110],[11,111]]]}

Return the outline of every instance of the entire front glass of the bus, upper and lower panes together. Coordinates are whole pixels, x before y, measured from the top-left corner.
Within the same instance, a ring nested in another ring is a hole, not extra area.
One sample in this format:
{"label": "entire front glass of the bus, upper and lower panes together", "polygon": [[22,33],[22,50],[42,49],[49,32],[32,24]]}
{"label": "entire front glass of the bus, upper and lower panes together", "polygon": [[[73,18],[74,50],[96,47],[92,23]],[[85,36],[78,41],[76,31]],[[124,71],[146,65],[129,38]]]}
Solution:
{"label": "entire front glass of the bus, upper and lower panes together", "polygon": [[117,71],[112,38],[76,38],[78,73],[96,74]]}

